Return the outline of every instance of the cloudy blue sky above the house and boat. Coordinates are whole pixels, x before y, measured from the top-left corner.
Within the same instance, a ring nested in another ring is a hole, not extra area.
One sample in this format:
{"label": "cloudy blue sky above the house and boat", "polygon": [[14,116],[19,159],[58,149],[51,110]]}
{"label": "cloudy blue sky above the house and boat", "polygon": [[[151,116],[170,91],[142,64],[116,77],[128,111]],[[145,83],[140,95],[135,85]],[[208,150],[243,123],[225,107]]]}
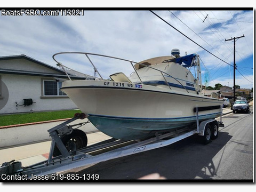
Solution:
{"label": "cloudy blue sky above the house and boat", "polygon": [[[217,83],[233,87],[234,41],[225,39],[244,35],[236,39],[236,85],[253,87],[254,11],[153,9],[167,23],[145,8],[85,10],[80,16],[11,16],[2,12],[0,56],[25,54],[56,67],[52,55],[58,52],[97,53],[140,62],[179,49],[181,56],[199,54],[202,83],[213,87]],[[57,58],[67,67],[93,75],[85,55]],[[105,78],[132,72],[129,63],[103,62],[95,57],[92,61]]]}

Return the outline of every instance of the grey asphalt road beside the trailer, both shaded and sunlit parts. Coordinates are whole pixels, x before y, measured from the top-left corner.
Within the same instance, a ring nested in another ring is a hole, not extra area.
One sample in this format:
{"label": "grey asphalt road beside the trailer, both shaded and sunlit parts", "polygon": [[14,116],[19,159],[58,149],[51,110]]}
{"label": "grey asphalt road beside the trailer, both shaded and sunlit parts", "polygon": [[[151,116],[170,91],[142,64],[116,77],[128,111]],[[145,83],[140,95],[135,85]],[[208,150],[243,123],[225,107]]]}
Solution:
{"label": "grey asphalt road beside the trailer, both shaded and sunlit parts", "polygon": [[225,127],[207,145],[193,135],[170,146],[95,164],[76,173],[98,174],[100,179],[138,179],[159,173],[168,180],[253,179],[253,111],[222,117]]}

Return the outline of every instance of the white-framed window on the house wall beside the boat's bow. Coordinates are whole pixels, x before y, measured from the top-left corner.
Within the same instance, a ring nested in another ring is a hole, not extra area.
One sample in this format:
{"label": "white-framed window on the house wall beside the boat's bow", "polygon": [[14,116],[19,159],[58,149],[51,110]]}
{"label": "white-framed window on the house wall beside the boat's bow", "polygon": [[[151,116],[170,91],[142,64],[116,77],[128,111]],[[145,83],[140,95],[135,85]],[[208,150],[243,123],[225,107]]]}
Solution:
{"label": "white-framed window on the house wall beside the boat's bow", "polygon": [[44,96],[66,96],[60,91],[62,82],[44,80]]}

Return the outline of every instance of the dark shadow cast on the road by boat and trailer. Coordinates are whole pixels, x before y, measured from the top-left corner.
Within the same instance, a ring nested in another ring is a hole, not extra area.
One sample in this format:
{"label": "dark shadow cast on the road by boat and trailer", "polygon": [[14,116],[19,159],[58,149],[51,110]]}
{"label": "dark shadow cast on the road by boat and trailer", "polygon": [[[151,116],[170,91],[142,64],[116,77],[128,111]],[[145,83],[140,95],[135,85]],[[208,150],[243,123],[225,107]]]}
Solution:
{"label": "dark shadow cast on the road by boat and trailer", "polygon": [[211,179],[221,163],[220,159],[218,164],[214,164],[212,159],[230,139],[228,133],[219,132],[217,139],[203,145],[198,136],[193,135],[170,146],[101,162],[78,173],[127,181],[150,173],[159,173],[166,179],[177,181]]}

